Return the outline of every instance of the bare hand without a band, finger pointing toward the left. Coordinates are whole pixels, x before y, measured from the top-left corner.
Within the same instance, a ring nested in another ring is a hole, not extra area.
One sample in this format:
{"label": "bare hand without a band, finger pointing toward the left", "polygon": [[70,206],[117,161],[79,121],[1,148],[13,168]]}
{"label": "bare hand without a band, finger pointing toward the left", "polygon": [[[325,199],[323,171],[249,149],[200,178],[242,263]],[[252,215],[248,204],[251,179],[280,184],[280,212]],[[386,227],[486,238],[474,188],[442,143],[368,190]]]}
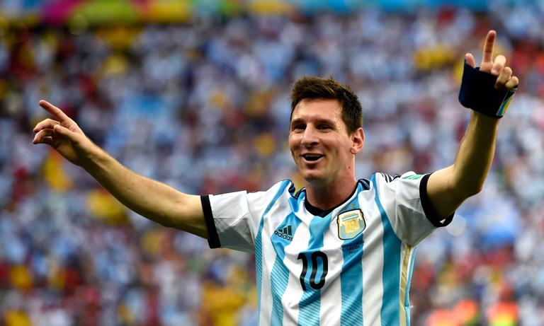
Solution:
{"label": "bare hand without a band, finger pointing toward the left", "polygon": [[81,166],[91,157],[91,151],[96,145],[60,108],[45,100],[40,100],[39,104],[50,112],[55,120],[45,119],[36,124],[32,143],[48,144],[68,161]]}

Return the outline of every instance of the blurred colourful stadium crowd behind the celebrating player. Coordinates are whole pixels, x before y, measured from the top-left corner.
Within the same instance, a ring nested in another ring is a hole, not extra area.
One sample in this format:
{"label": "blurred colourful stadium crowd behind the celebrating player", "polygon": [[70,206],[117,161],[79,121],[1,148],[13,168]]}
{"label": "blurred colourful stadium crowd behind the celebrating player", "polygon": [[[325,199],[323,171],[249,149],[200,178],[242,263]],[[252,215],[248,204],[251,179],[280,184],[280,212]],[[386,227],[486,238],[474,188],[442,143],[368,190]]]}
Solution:
{"label": "blurred colourful stadium crowd behind the celebrating player", "polygon": [[256,324],[253,257],[33,146],[40,98],[136,172],[216,194],[300,187],[290,83],[333,75],[363,103],[358,176],[423,173],[453,161],[463,54],[489,28],[521,91],[484,191],[419,245],[412,320],[544,325],[544,2],[360,2],[0,1],[0,325]]}

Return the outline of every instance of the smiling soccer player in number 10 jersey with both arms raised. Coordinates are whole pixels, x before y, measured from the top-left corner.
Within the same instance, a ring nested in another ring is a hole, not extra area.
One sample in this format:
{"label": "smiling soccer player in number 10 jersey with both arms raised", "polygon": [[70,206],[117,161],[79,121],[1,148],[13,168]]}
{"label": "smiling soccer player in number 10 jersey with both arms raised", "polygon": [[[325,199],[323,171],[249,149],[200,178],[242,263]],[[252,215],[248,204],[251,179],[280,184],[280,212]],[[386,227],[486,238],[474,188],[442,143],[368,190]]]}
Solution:
{"label": "smiling soccer player in number 10 jersey with both arms raised", "polygon": [[196,196],[137,175],[89,140],[58,107],[34,129],[120,202],[164,226],[207,238],[211,248],[254,251],[260,325],[409,325],[416,245],[480,192],[499,117],[519,83],[487,34],[480,69],[466,54],[460,101],[472,117],[455,162],[431,174],[375,173],[357,180],[361,104],[332,79],[293,86],[289,148],[304,178],[263,192]]}

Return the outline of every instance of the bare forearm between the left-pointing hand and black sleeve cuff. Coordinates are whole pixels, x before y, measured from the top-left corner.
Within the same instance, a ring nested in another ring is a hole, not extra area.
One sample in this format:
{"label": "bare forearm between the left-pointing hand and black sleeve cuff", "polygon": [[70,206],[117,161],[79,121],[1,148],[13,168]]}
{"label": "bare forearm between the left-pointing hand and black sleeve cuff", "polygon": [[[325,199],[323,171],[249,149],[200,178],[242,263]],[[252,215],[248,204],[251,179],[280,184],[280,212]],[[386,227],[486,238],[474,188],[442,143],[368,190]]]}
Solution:
{"label": "bare forearm between the left-pointing hand and black sleeve cuff", "polygon": [[164,226],[208,237],[198,196],[183,194],[162,182],[138,175],[98,147],[82,168],[137,214]]}

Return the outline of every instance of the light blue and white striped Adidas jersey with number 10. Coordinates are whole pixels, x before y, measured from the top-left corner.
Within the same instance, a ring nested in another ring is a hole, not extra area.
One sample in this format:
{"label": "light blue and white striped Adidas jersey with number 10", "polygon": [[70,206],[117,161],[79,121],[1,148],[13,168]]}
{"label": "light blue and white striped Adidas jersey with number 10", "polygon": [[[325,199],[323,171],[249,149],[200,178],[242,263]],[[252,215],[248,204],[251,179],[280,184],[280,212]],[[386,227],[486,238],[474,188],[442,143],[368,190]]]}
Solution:
{"label": "light blue and white striped Adidas jersey with number 10", "polygon": [[358,180],[329,211],[290,180],[201,197],[210,248],[254,251],[259,325],[410,325],[416,245],[438,221],[429,175]]}

